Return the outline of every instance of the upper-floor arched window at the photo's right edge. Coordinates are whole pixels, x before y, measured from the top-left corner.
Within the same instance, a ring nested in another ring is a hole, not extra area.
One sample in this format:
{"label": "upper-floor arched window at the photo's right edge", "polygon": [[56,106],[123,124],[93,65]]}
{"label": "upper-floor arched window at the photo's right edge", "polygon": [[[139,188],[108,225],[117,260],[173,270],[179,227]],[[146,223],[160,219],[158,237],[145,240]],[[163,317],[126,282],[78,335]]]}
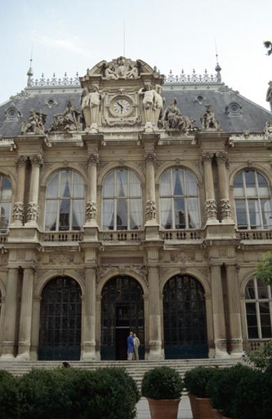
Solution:
{"label": "upper-floor arched window at the photo's right edge", "polygon": [[272,228],[271,192],[263,175],[240,172],[234,179],[234,199],[238,228]]}

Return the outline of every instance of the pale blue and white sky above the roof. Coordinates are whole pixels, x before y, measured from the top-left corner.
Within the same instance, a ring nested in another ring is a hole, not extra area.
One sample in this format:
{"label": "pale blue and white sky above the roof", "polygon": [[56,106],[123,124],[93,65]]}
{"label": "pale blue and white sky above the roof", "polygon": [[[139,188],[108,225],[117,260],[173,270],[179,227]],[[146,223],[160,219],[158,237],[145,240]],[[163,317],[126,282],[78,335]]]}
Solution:
{"label": "pale blue and white sky above the roof", "polygon": [[74,77],[125,39],[126,57],[166,75],[215,73],[217,47],[222,81],[269,109],[271,20],[271,0],[0,0],[0,103],[26,86],[32,47],[34,78]]}

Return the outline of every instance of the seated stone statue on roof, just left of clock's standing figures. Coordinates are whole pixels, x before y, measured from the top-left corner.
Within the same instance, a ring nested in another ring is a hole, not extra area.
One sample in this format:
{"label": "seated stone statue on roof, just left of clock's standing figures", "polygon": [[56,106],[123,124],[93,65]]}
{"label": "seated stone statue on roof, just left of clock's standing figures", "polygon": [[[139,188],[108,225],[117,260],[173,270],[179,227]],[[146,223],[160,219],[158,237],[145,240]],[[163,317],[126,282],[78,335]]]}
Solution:
{"label": "seated stone statue on roof, just left of clock's standing figures", "polygon": [[54,115],[50,131],[77,131],[80,129],[80,112],[71,101],[67,101],[66,110]]}

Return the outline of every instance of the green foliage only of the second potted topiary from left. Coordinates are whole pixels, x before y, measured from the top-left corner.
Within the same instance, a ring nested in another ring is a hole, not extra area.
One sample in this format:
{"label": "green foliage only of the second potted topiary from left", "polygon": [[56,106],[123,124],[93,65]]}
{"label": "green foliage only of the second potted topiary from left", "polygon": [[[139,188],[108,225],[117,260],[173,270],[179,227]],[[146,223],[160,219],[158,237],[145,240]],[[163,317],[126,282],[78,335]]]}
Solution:
{"label": "green foliage only of the second potted topiary from left", "polygon": [[196,367],[186,371],[184,385],[191,395],[196,397],[208,397],[206,385],[209,380],[218,372],[213,367]]}

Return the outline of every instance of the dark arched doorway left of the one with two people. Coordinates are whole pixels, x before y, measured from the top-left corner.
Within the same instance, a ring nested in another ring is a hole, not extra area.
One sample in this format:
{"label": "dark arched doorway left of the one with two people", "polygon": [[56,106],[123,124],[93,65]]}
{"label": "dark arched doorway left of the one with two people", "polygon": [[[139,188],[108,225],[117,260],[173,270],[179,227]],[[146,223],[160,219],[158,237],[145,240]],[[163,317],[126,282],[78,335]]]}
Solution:
{"label": "dark arched doorway left of the one with two people", "polygon": [[39,360],[79,360],[82,299],[70,277],[49,281],[40,302]]}

